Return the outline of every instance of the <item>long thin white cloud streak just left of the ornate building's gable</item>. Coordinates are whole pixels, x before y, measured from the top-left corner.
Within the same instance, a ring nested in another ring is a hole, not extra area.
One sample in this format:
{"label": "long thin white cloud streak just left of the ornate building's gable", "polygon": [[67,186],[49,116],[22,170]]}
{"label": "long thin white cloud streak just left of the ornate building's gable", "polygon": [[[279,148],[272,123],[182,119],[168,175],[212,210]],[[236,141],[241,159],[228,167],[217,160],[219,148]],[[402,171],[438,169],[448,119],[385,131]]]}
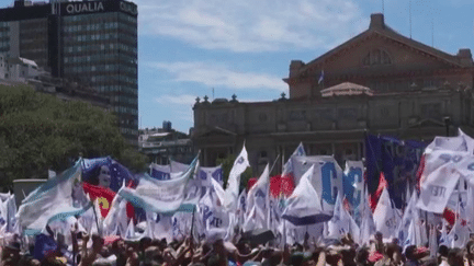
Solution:
{"label": "long thin white cloud streak just left of the ornate building's gable", "polygon": [[177,82],[196,82],[208,88],[234,90],[266,89],[286,91],[287,85],[280,77],[267,73],[239,72],[213,62],[150,62],[149,67],[165,70],[174,76]]}

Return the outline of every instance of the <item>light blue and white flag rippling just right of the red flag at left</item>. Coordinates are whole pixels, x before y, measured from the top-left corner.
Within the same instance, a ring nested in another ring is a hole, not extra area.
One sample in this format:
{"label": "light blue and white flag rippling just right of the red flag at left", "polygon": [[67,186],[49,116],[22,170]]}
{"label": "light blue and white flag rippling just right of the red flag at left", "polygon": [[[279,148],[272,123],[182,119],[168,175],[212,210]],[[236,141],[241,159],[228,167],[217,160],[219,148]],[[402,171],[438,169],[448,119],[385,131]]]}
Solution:
{"label": "light blue and white flag rippling just right of the red flag at left", "polygon": [[144,175],[135,189],[122,187],[119,195],[149,212],[192,212],[194,200],[187,203],[185,188],[199,166],[198,157],[185,172],[171,173],[171,180],[159,181]]}

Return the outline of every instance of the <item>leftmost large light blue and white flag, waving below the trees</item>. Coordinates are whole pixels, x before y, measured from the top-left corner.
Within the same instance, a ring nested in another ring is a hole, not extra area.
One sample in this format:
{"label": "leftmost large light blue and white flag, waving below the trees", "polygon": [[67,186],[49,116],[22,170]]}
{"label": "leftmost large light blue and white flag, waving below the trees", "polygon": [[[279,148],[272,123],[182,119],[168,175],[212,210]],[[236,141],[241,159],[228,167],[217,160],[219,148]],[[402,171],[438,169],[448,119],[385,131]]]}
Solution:
{"label": "leftmost large light blue and white flag, waving below the trees", "polygon": [[91,207],[72,207],[72,189],[80,185],[81,160],[60,175],[48,180],[23,199],[16,213],[25,233],[38,233],[54,220],[64,220],[70,216],[83,213]]}

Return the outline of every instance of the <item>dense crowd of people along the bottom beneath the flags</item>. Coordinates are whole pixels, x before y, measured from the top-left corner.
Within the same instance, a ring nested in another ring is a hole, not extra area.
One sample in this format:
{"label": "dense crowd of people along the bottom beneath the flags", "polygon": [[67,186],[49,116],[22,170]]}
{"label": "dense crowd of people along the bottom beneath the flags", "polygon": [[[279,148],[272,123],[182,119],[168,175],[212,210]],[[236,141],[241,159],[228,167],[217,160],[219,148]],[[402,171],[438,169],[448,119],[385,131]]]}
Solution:
{"label": "dense crowd of people along the bottom beneath the flags", "polygon": [[119,236],[101,238],[71,230],[71,245],[64,235],[38,234],[34,244],[25,244],[16,235],[2,246],[1,266],[78,265],[78,266],[180,266],[180,265],[320,265],[320,266],[472,266],[474,239],[465,248],[440,245],[436,254],[427,246],[409,245],[403,248],[396,240],[384,242],[377,232],[366,246],[359,246],[350,234],[340,240],[271,247],[272,243],[255,244],[240,240],[236,243],[207,239],[194,243],[191,238],[168,243],[165,239],[125,241]]}

